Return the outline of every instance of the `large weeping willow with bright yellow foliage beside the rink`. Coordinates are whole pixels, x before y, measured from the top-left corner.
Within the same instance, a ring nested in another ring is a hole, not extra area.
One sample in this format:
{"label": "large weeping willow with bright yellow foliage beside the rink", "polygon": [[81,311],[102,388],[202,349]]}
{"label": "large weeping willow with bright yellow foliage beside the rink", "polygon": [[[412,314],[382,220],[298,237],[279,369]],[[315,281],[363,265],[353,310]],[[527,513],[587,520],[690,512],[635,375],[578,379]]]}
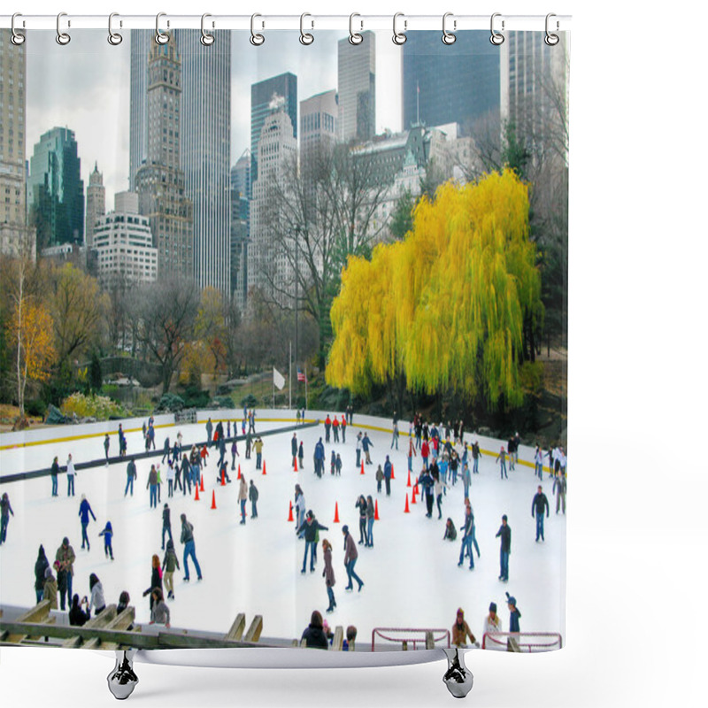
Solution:
{"label": "large weeping willow with bright yellow foliage beside the rink", "polygon": [[350,259],[332,307],[327,382],[521,403],[523,331],[543,318],[527,185],[511,171],[422,199],[403,242]]}

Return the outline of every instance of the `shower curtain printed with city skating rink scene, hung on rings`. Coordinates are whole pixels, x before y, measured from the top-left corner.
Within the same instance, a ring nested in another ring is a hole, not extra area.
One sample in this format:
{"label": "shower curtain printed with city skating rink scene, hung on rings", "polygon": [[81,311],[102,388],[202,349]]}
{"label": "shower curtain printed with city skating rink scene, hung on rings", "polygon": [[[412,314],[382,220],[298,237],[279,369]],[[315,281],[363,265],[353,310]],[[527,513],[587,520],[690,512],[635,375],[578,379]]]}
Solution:
{"label": "shower curtain printed with city skating rink scene, hung on rings", "polygon": [[441,34],[2,30],[3,621],[563,646],[569,40]]}

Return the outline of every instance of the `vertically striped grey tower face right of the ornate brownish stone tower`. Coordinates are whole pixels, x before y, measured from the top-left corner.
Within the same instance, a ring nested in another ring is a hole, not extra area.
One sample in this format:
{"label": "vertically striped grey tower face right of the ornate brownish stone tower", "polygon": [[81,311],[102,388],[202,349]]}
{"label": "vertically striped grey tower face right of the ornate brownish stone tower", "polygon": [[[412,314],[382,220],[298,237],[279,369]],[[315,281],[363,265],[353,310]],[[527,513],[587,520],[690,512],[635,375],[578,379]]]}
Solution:
{"label": "vertically striped grey tower face right of the ornate brownish stone tower", "polygon": [[181,168],[194,218],[194,278],[230,294],[231,32],[211,47],[197,29],[175,30],[181,57]]}

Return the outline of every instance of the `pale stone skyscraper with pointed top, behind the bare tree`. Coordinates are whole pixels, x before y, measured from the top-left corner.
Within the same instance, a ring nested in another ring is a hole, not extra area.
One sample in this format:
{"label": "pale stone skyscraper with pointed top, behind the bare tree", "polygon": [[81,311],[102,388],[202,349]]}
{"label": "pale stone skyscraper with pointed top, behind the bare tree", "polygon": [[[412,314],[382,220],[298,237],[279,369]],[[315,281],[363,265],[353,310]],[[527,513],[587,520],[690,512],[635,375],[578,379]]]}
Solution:
{"label": "pale stone skyscraper with pointed top, behind the bare tree", "polygon": [[273,206],[279,193],[288,189],[288,174],[296,159],[297,141],[285,106],[271,113],[258,141],[258,179],[253,181],[250,203],[250,241],[248,248],[248,290],[261,290],[266,299],[284,304],[294,292],[292,268],[279,239],[287,226]]}

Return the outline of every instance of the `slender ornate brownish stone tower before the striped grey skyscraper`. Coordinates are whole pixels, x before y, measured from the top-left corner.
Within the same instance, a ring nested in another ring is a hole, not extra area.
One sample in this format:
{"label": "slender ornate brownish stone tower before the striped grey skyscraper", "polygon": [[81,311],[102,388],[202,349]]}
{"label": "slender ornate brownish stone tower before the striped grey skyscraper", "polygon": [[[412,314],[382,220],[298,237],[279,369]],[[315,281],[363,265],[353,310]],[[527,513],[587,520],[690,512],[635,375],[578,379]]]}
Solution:
{"label": "slender ornate brownish stone tower before the striped grey skyscraper", "polygon": [[194,276],[192,204],[180,169],[181,62],[174,37],[148,59],[148,153],[135,173],[140,213],[150,219],[161,277]]}

